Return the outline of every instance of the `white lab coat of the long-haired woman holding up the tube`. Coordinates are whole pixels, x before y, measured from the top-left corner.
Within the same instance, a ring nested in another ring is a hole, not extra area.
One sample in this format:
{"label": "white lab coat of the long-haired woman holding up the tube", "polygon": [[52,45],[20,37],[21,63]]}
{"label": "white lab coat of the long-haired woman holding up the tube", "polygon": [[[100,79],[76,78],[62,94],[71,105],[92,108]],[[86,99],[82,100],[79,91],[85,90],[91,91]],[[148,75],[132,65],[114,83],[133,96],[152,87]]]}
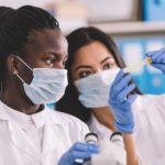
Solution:
{"label": "white lab coat of the long-haired woman holding up the tube", "polygon": [[[140,165],[165,164],[165,95],[139,96],[132,105],[135,129],[133,133]],[[111,131],[92,116],[89,128],[99,136],[110,138]]]}

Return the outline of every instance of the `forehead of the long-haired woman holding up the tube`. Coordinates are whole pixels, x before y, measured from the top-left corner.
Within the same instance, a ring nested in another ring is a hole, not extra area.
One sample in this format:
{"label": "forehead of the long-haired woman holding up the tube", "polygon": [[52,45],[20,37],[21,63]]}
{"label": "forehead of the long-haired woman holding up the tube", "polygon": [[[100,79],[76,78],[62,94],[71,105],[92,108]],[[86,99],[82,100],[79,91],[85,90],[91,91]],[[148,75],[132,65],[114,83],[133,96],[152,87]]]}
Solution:
{"label": "forehead of the long-haired woman holding up the tube", "polygon": [[105,57],[112,57],[112,54],[101,42],[92,42],[79,48],[74,56],[74,63],[100,63]]}

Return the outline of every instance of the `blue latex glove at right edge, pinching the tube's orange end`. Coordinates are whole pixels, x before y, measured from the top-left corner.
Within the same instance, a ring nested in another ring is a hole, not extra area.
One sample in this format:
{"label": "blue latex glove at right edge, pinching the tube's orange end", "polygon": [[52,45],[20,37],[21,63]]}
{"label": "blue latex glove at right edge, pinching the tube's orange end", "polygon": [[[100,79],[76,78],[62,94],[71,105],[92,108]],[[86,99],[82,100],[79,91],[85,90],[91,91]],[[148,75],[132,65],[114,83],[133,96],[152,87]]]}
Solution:
{"label": "blue latex glove at right edge, pinching the tube's orange end", "polygon": [[165,74],[165,48],[160,51],[150,52],[146,54],[147,57],[152,58],[151,65]]}

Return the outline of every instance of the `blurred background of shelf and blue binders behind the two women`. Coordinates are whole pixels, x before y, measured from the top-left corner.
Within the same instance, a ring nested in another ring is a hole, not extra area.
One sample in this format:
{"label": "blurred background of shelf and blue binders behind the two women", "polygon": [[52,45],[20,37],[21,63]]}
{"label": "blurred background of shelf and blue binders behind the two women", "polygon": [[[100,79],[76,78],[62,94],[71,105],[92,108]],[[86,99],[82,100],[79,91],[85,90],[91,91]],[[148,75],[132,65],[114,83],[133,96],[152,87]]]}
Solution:
{"label": "blurred background of shelf and blue binders behind the two women", "polygon": [[[165,46],[165,0],[0,0],[0,6],[37,6],[54,14],[64,34],[94,25],[111,35],[128,65]],[[132,73],[144,94],[164,94],[165,75],[145,66]]]}

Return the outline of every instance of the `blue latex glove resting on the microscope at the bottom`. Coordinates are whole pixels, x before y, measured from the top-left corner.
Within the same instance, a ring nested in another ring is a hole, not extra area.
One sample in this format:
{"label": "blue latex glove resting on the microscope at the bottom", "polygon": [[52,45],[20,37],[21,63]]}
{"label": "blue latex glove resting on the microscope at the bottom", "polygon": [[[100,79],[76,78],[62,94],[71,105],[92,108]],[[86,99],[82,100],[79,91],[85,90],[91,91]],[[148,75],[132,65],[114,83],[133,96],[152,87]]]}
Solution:
{"label": "blue latex glove resting on the microscope at the bottom", "polygon": [[89,160],[96,153],[99,153],[98,145],[77,142],[62,156],[58,165],[74,165],[75,160]]}

